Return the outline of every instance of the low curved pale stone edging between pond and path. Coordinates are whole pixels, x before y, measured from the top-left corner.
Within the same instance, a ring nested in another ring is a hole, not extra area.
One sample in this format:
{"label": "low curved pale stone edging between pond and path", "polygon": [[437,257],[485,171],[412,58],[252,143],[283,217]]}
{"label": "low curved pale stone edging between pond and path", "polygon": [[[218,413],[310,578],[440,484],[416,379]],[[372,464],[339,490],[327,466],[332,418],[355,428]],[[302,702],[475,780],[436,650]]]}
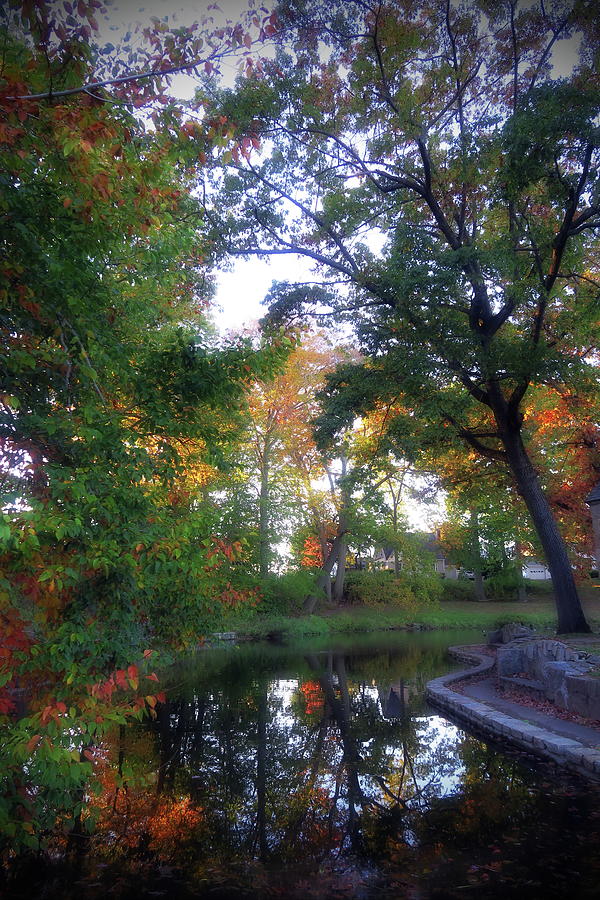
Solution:
{"label": "low curved pale stone edging between pond and path", "polygon": [[[449,675],[442,675],[440,678],[430,681],[427,684],[426,696],[433,706],[448,712],[451,718],[472,725],[497,740],[509,741],[528,753],[552,759],[587,778],[600,781],[600,752],[598,750],[586,747],[585,744],[572,738],[553,734],[537,725],[530,725],[522,719],[515,719],[485,703],[453,691],[450,685],[454,682],[469,676],[491,672],[494,659],[470,647],[450,647],[449,651],[459,659],[475,663],[475,666],[472,669],[451,672]],[[598,740],[600,742],[600,735]]]}

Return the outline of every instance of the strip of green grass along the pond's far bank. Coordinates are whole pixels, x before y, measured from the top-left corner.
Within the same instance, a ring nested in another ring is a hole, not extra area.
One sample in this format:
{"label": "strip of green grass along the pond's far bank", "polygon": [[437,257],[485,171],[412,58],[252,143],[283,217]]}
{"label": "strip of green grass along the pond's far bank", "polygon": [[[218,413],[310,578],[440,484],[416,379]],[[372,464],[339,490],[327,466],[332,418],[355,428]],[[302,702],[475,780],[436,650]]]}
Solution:
{"label": "strip of green grass along the pond's far bank", "polygon": [[[600,598],[584,601],[586,616],[594,630],[600,628]],[[390,631],[421,626],[424,629],[473,628],[492,630],[507,622],[532,625],[542,632],[553,633],[556,612],[552,598],[528,603],[448,601],[407,613],[394,607],[338,607],[325,609],[312,616],[273,616],[252,622],[232,623],[239,637],[261,640],[277,636],[294,640],[309,635],[326,637],[372,631]]]}

